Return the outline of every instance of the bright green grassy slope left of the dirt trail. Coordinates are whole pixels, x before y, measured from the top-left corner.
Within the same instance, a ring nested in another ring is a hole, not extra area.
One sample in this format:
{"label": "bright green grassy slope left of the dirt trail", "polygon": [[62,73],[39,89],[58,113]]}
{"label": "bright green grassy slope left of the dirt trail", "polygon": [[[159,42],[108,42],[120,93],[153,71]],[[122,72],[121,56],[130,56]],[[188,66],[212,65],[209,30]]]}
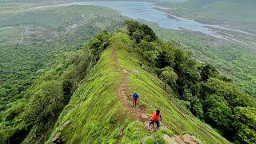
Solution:
{"label": "bright green grassy slope left of the dirt trail", "polygon": [[[72,122],[62,131],[67,143],[113,142],[119,127],[133,125],[122,103],[118,102],[116,88],[122,75],[112,66],[110,52],[106,50],[102,54],[93,73],[87,82],[79,86],[58,120],[55,131],[67,120]],[[142,126],[138,131],[143,132]],[[126,137],[126,141],[133,139],[129,135]]]}

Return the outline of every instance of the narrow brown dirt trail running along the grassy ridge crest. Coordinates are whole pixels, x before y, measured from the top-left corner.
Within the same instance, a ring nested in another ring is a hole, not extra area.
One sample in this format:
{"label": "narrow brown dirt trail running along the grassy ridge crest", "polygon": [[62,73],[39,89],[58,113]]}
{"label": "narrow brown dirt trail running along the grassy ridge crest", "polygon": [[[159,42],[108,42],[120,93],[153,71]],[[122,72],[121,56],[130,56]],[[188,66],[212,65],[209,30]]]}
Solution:
{"label": "narrow brown dirt trail running along the grassy ridge crest", "polygon": [[120,73],[122,73],[122,80],[121,83],[118,86],[118,96],[121,100],[121,102],[126,106],[126,110],[130,112],[130,114],[133,116],[135,120],[141,121],[141,122],[147,122],[148,119],[146,118],[146,111],[142,110],[137,107],[131,106],[131,103],[129,101],[129,76],[131,74],[130,71],[122,68],[118,65],[118,55],[117,50],[113,49],[111,53],[111,60],[114,64],[114,67],[117,68]]}

